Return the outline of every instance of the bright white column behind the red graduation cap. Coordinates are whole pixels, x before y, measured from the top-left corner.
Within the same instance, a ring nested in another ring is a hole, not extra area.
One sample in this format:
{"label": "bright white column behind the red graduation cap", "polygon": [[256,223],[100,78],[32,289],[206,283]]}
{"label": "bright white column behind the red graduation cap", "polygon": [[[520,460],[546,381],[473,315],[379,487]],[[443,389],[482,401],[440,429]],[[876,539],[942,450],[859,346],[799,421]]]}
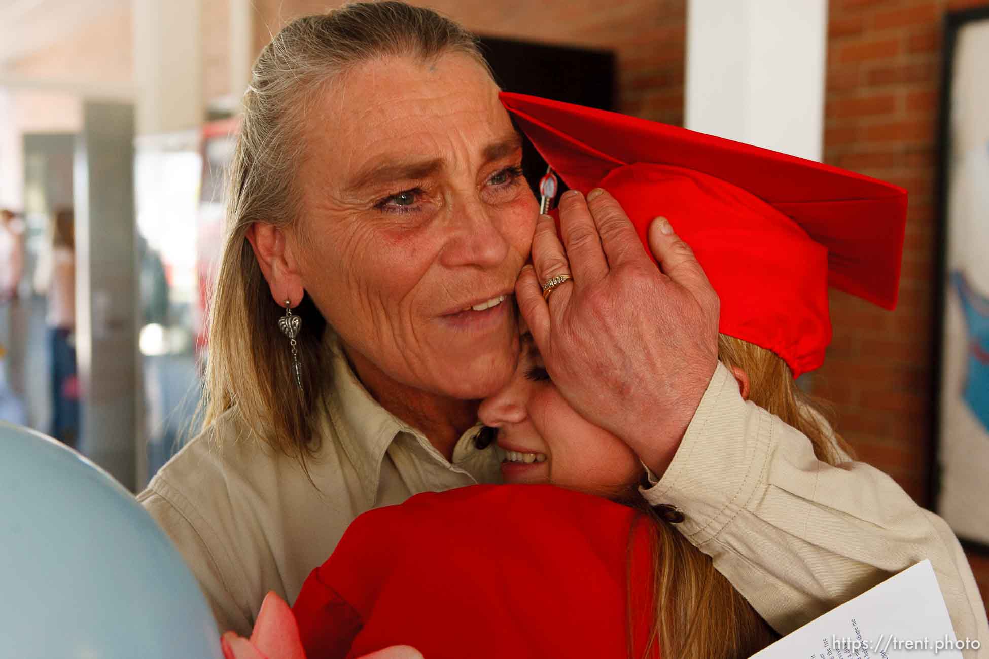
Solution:
{"label": "bright white column behind the red graduation cap", "polygon": [[821,160],[827,0],[689,0],[685,124]]}

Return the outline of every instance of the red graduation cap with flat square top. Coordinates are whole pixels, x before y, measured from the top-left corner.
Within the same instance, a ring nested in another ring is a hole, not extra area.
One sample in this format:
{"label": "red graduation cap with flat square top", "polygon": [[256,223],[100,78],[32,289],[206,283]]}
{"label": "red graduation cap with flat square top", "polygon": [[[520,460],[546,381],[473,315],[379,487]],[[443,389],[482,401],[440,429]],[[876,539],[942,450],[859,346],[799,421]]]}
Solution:
{"label": "red graduation cap with flat square top", "polygon": [[902,188],[673,125],[520,94],[501,103],[568,186],[614,196],[643,244],[668,217],[721,297],[720,331],[794,377],[824,362],[829,284],[896,306]]}

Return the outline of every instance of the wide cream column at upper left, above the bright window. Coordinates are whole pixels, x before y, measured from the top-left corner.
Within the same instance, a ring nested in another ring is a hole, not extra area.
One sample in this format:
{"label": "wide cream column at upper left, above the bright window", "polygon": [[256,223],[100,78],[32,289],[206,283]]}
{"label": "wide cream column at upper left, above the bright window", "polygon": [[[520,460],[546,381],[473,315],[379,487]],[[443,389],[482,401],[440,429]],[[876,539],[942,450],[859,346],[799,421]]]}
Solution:
{"label": "wide cream column at upper left, above the bright window", "polygon": [[203,124],[201,0],[134,0],[139,135]]}

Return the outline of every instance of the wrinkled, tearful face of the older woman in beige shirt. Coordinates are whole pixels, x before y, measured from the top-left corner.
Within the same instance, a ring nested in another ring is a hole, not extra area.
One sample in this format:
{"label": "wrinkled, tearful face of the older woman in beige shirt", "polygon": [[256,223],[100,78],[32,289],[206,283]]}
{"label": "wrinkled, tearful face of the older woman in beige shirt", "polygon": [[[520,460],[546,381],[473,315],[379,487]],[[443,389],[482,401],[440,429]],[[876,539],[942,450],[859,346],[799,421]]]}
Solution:
{"label": "wrinkled, tearful face of the older woman in beige shirt", "polygon": [[351,355],[454,398],[504,385],[538,215],[521,157],[494,82],[466,55],[383,58],[330,85],[308,125],[305,216],[289,239]]}

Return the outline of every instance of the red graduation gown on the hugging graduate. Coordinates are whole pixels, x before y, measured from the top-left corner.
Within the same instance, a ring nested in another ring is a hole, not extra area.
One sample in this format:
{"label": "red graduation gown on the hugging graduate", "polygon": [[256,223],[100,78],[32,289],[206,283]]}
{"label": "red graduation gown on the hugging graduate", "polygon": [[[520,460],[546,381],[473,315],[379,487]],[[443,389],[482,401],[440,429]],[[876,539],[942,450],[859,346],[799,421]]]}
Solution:
{"label": "red graduation gown on the hugging graduate", "polygon": [[477,485],[372,510],[293,607],[307,656],[404,644],[427,659],[627,657],[631,583],[641,657],[655,622],[649,524],[550,485]]}

